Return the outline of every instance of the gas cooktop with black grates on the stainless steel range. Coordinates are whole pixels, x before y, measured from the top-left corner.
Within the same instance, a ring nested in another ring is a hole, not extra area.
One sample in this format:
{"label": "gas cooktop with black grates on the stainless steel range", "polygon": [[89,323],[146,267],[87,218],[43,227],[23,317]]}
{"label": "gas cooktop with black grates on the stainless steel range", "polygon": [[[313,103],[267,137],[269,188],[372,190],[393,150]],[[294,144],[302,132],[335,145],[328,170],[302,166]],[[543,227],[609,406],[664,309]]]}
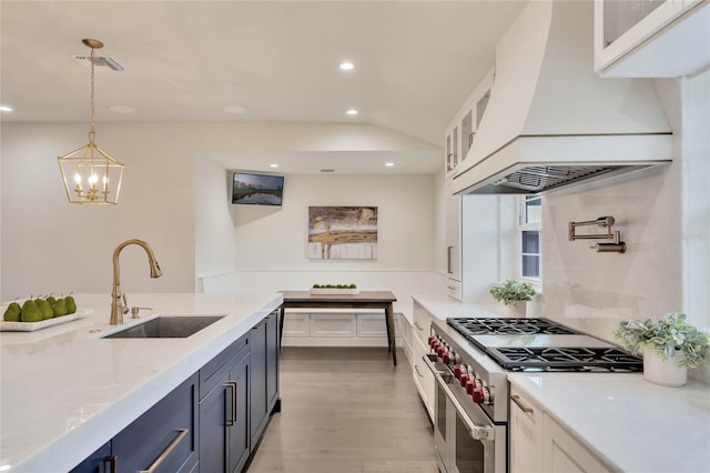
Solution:
{"label": "gas cooktop with black grates on the stainless steel range", "polygon": [[509,371],[640,372],[640,358],[548,319],[447,319]]}

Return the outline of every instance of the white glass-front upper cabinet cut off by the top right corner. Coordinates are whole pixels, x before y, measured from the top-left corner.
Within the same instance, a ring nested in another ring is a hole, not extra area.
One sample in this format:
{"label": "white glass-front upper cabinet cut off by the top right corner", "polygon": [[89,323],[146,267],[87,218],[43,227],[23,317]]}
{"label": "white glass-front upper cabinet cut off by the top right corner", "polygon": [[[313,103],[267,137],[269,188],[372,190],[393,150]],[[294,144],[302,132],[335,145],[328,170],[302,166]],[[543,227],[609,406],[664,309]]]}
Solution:
{"label": "white glass-front upper cabinet cut off by the top right corner", "polygon": [[595,0],[595,70],[668,78],[710,66],[710,0]]}

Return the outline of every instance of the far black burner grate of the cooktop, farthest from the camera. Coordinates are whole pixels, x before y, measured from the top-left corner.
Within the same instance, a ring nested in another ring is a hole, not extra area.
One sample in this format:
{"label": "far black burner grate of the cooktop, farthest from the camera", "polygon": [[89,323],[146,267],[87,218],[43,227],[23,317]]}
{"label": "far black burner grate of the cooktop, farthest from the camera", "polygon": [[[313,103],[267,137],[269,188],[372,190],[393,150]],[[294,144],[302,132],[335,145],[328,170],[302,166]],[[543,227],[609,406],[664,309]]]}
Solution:
{"label": "far black burner grate of the cooktop, farthest from the camera", "polygon": [[446,319],[463,335],[517,335],[544,333],[571,335],[578,332],[547,319]]}

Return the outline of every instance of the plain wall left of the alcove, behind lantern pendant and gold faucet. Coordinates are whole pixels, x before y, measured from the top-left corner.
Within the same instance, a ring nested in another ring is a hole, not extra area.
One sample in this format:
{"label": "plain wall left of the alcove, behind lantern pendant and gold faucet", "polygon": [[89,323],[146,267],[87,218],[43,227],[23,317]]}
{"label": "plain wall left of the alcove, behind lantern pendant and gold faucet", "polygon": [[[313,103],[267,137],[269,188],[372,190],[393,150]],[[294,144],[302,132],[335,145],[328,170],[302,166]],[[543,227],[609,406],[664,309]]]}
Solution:
{"label": "plain wall left of the alcove, behind lantern pendant and gold faucet", "polygon": [[[163,276],[149,278],[138,246],[121,255],[123,290],[194,286],[194,171],[178,134],[189,127],[98,127],[97,142],[126,165],[119,205],[75,205],[64,197],[57,157],[88,141],[85,124],[3,124],[2,300],[111,291],[115,245],[152,245]],[[101,133],[104,130],[105,133]]]}

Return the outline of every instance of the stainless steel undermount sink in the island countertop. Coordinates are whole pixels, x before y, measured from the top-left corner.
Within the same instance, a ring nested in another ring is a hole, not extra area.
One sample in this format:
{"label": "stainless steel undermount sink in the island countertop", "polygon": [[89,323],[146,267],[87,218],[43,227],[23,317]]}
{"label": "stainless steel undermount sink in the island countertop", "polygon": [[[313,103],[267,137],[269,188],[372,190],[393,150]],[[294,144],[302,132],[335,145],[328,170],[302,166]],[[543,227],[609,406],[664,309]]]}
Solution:
{"label": "stainless steel undermount sink in the island countertop", "polygon": [[141,324],[103,336],[103,339],[184,339],[224,315],[160,315]]}

